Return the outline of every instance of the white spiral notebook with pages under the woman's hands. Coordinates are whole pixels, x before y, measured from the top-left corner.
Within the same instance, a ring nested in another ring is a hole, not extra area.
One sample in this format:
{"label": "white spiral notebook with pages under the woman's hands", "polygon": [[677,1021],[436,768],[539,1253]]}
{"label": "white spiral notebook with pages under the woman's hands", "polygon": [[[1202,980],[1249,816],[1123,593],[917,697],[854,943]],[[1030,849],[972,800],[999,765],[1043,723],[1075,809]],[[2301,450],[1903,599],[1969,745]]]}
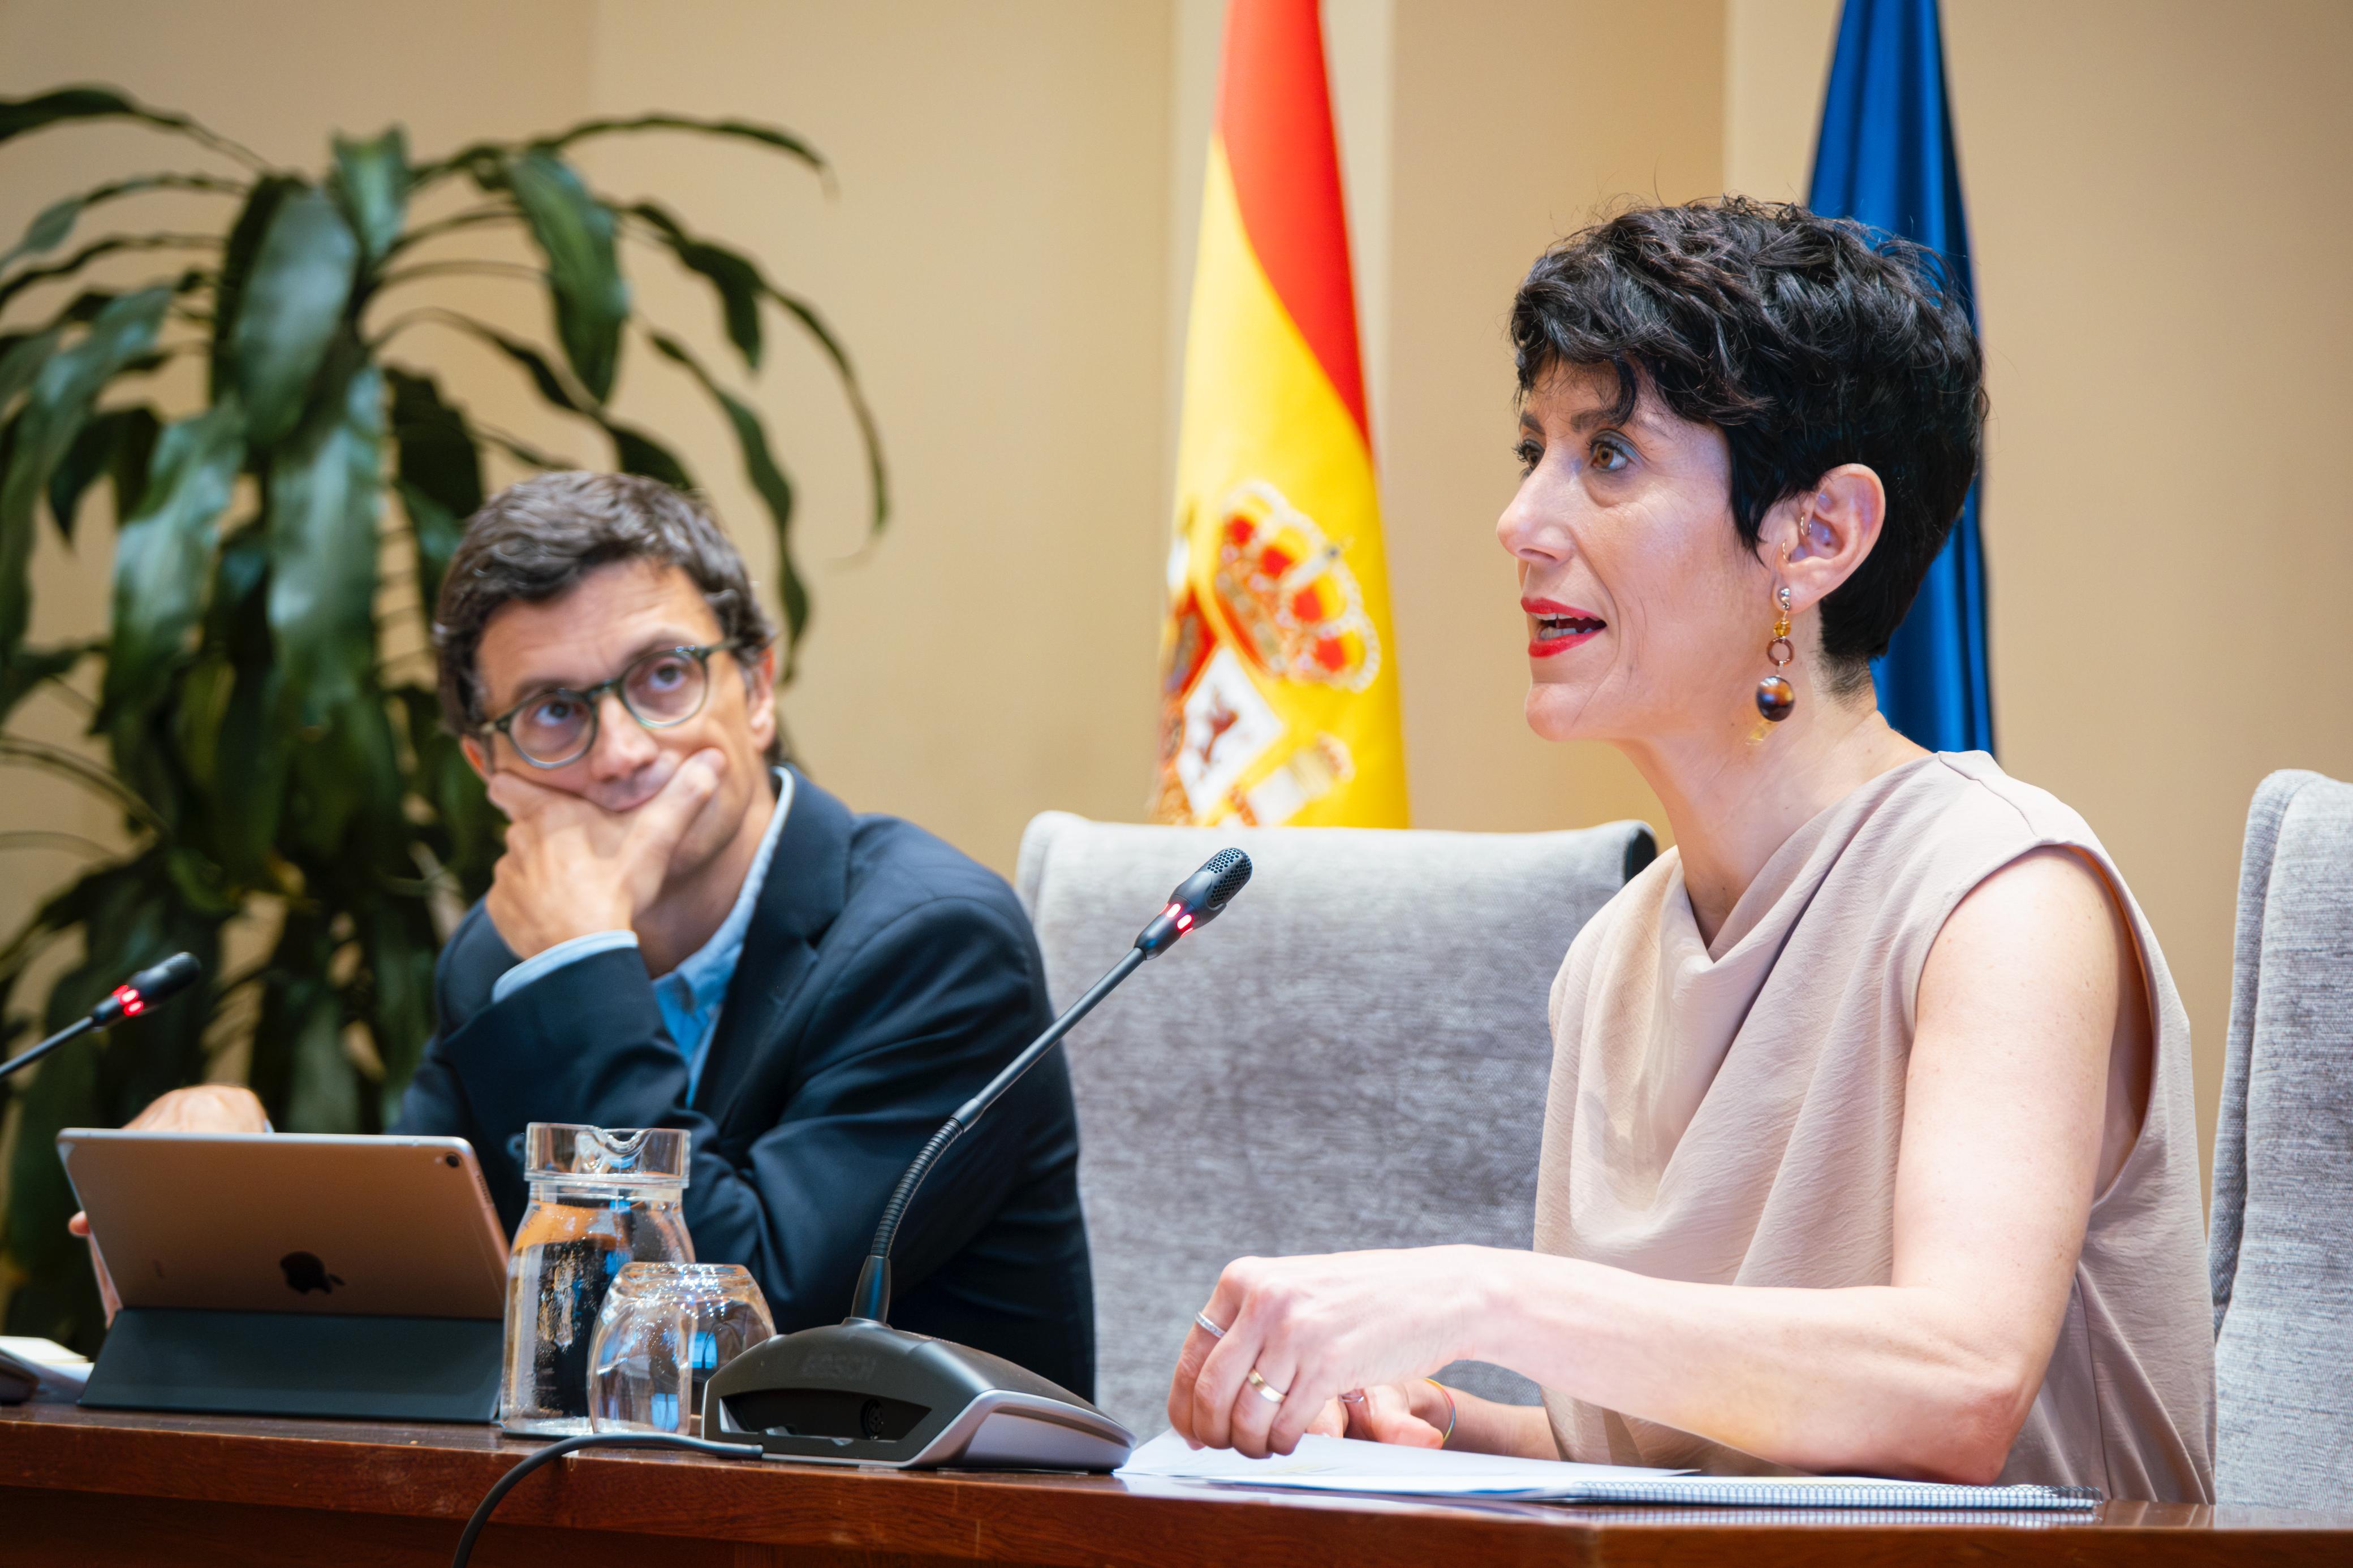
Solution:
{"label": "white spiral notebook with pages under the woman's hands", "polygon": [[1341,1436],[1306,1436],[1297,1453],[1249,1460],[1231,1448],[1186,1448],[1162,1432],[1115,1472],[1122,1481],[1271,1486],[1386,1497],[1478,1497],[1511,1502],[1617,1502],[1666,1507],[1802,1509],[2089,1509],[2087,1486],[1944,1486],[1875,1476],[1701,1476],[1687,1469],[1515,1460],[1499,1453],[1398,1448]]}

